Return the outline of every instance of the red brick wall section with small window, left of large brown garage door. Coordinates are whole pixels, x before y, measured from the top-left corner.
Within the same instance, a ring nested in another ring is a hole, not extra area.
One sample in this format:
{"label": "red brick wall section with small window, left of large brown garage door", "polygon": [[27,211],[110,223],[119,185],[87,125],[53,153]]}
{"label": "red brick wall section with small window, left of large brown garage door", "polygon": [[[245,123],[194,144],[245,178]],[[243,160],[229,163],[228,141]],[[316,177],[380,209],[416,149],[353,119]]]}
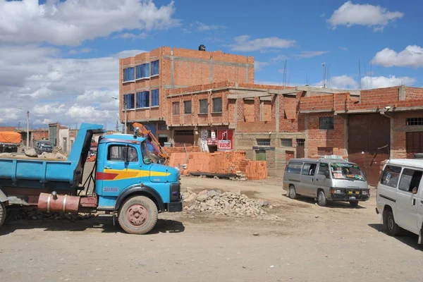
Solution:
{"label": "red brick wall section with small window, left of large brown garage door", "polygon": [[[333,130],[320,130],[320,118],[333,117]],[[308,157],[317,157],[318,147],[333,147],[333,154],[344,153],[344,119],[331,113],[308,114]]]}

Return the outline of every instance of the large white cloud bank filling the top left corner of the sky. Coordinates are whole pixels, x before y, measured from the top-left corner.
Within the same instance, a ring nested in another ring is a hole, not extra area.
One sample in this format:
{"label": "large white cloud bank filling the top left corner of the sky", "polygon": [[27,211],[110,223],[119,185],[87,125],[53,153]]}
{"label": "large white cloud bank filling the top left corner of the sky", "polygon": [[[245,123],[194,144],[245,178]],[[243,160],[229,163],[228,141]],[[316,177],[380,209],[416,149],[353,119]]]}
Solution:
{"label": "large white cloud bank filling the top left corner of the sky", "polygon": [[0,0],[0,42],[77,46],[113,32],[179,26],[174,12],[173,1],[158,8],[152,0]]}

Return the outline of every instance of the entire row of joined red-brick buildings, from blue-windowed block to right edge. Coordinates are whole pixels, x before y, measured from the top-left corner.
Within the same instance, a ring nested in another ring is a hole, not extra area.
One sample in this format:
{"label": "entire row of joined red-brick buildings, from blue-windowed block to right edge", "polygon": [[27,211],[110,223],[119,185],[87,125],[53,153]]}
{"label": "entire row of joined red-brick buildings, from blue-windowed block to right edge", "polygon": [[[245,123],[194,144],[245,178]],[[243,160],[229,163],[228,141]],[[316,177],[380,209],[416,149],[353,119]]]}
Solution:
{"label": "entire row of joined red-brick buildings, from blue-windowed block to right edge", "polygon": [[[154,61],[159,68],[140,78],[140,66]],[[161,142],[243,150],[249,159],[265,160],[272,176],[282,176],[290,158],[336,154],[357,162],[374,184],[384,159],[423,152],[422,88],[255,85],[253,63],[252,57],[169,47],[121,59],[121,120],[125,99],[134,108],[128,123],[149,125]]]}

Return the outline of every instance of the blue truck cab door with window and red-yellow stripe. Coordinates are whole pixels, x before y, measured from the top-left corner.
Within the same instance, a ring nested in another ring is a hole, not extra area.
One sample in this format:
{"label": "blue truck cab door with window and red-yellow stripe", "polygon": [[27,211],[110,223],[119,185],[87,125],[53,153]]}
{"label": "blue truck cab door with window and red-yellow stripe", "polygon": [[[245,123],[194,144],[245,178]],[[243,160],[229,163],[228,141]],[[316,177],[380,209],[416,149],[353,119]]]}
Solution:
{"label": "blue truck cab door with window and red-yellow stripe", "polygon": [[98,195],[117,197],[128,186],[139,184],[142,173],[148,173],[141,169],[140,145],[108,143],[102,153],[103,163],[97,164]]}

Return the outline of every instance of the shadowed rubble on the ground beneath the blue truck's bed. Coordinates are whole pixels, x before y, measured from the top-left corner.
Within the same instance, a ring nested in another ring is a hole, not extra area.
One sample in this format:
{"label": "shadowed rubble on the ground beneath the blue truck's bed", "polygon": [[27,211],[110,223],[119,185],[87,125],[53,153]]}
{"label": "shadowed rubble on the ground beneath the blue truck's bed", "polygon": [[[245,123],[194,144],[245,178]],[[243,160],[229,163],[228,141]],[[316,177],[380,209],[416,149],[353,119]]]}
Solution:
{"label": "shadowed rubble on the ground beneath the blue truck's bed", "polygon": [[77,220],[91,219],[94,217],[94,214],[68,214],[63,212],[39,212],[37,209],[19,209],[16,212],[13,212],[11,215],[11,220],[41,220],[41,219],[50,219],[50,220],[68,220],[75,222]]}

